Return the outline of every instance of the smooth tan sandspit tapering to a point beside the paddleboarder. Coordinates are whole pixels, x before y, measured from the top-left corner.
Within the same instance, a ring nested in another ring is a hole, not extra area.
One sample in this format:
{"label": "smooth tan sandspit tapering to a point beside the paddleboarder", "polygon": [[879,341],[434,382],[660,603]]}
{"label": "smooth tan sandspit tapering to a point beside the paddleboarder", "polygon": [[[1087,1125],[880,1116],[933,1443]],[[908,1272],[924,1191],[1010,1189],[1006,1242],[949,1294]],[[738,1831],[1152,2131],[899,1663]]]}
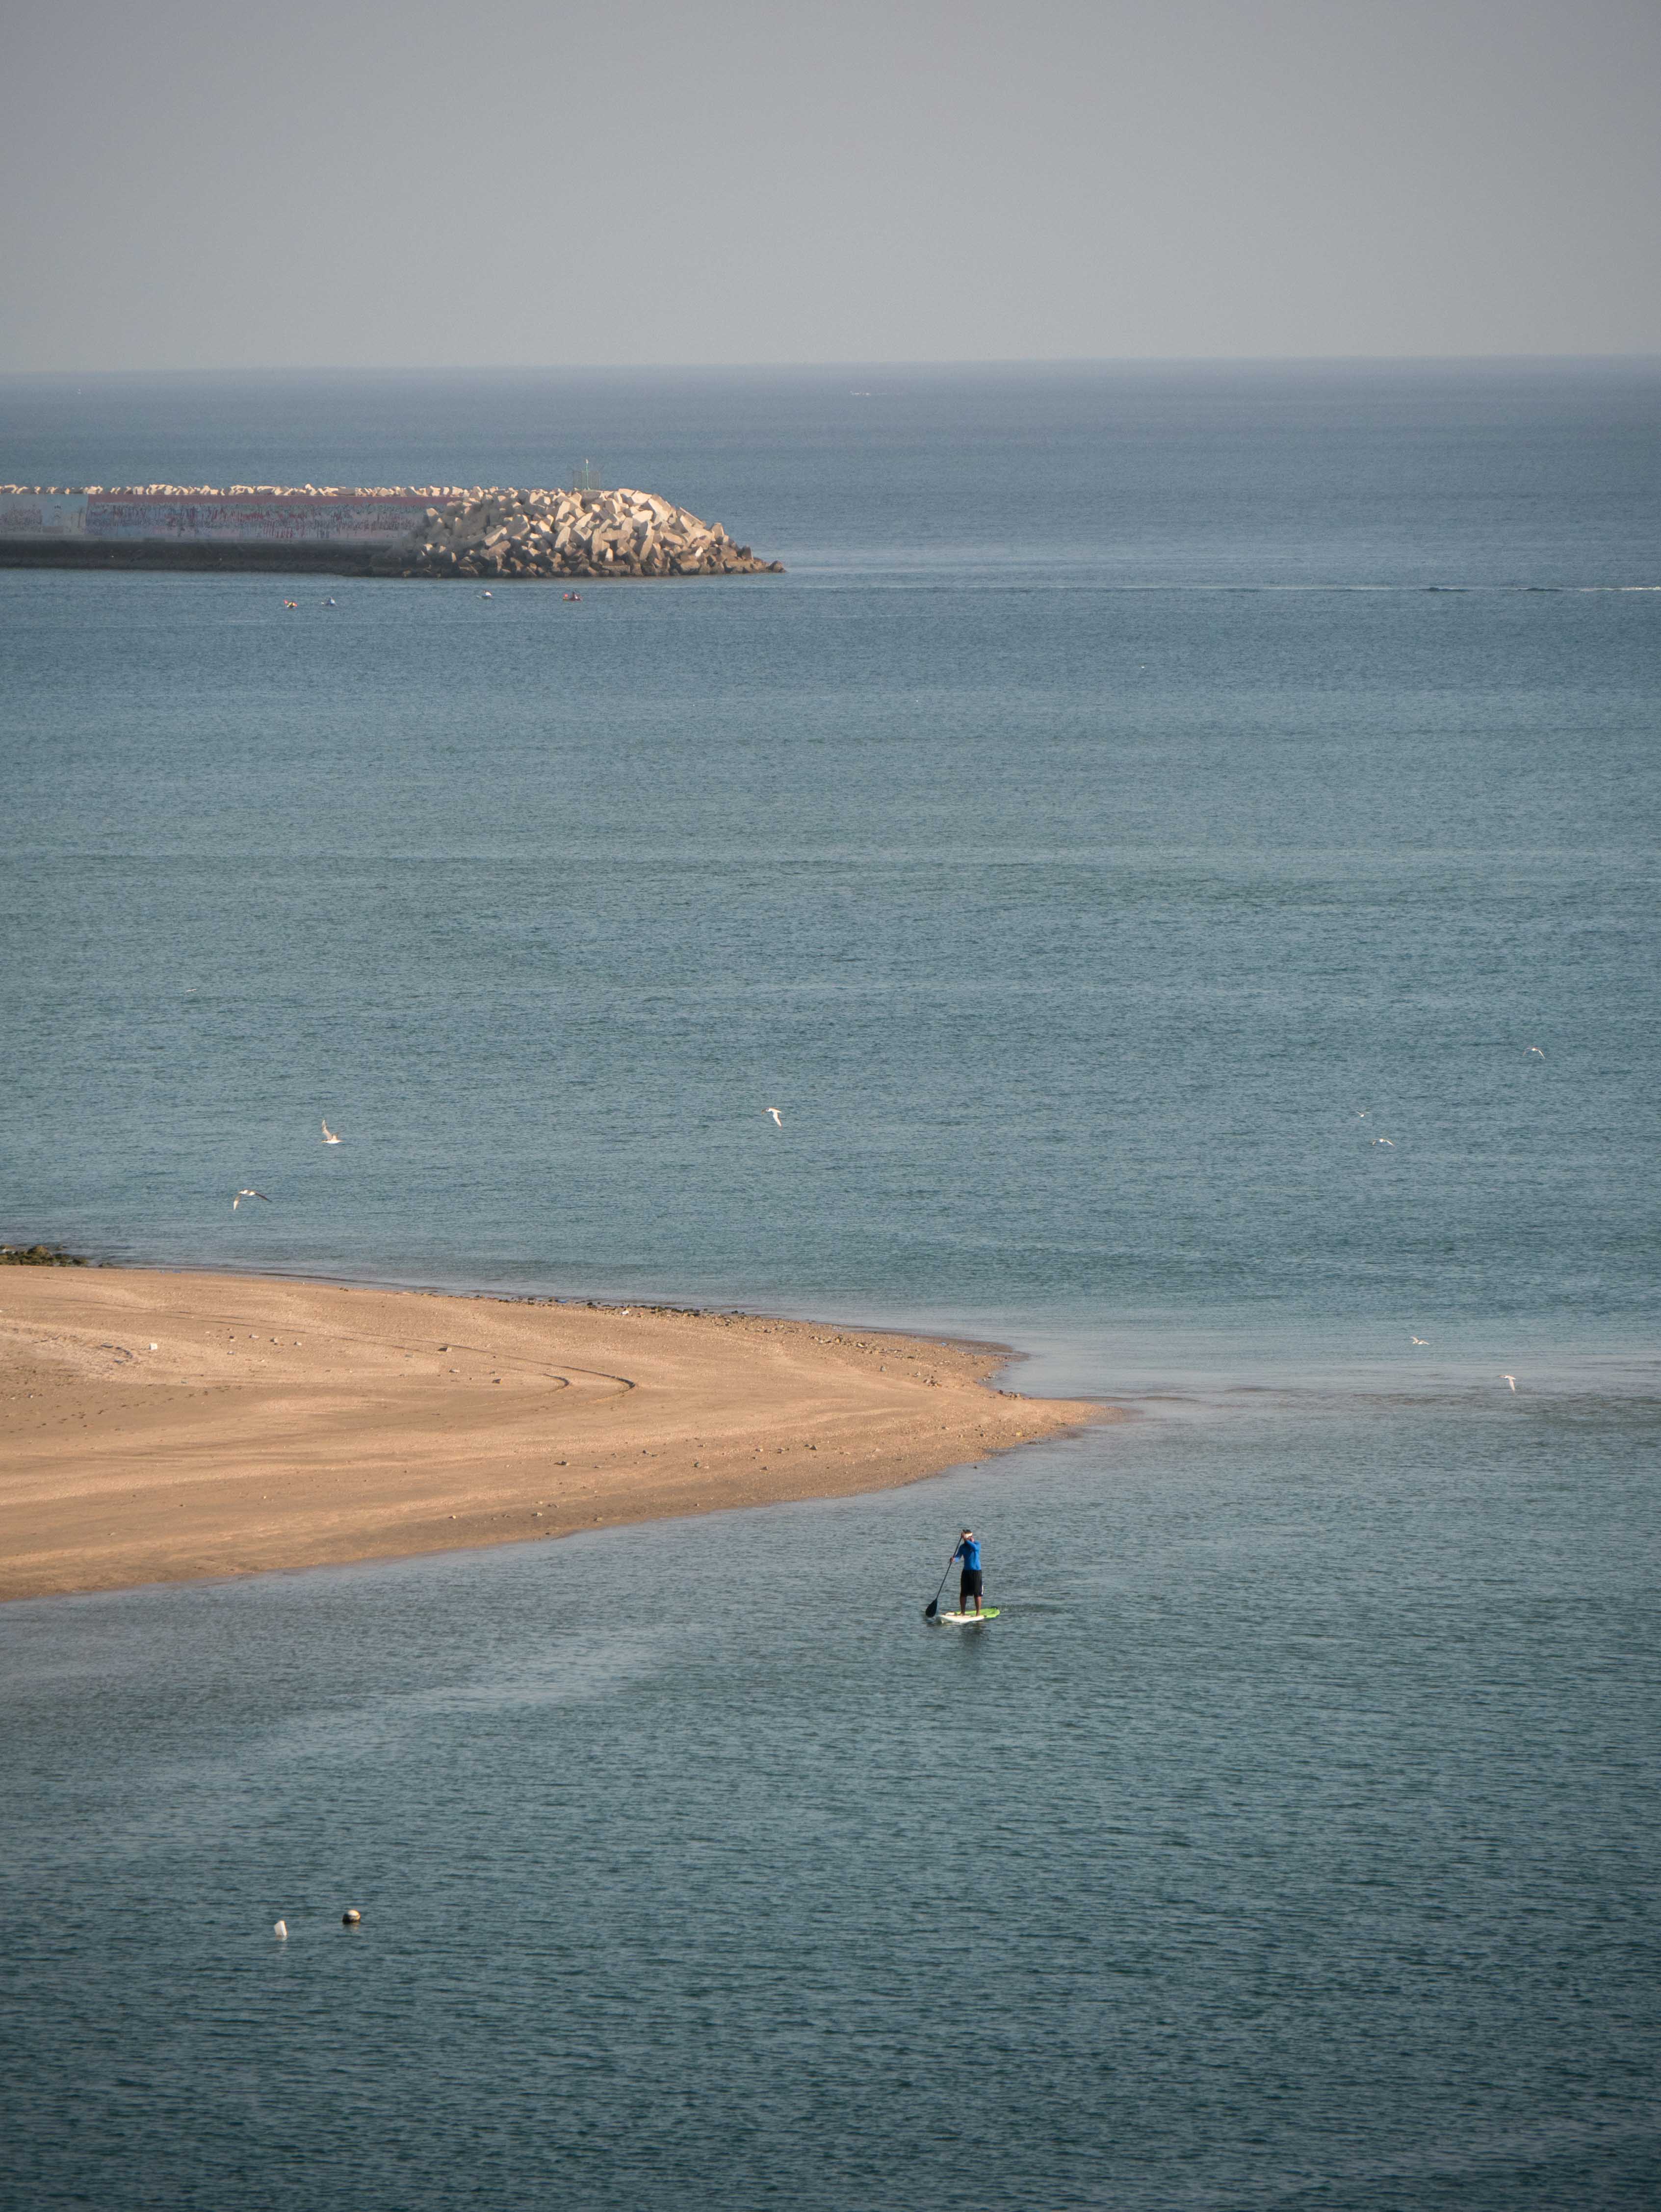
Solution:
{"label": "smooth tan sandspit tapering to a point beside the paddleboarder", "polygon": [[265,1276],[0,1272],[0,1599],[838,1498],[1112,1418],[997,1347]]}

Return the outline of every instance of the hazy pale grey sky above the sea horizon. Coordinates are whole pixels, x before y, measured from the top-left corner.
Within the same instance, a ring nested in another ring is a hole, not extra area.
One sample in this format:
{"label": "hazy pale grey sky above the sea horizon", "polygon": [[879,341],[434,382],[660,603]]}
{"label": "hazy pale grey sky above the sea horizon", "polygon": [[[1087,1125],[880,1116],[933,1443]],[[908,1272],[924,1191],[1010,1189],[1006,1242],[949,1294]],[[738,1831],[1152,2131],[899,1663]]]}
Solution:
{"label": "hazy pale grey sky above the sea horizon", "polygon": [[1657,0],[9,0],[0,367],[1661,352]]}

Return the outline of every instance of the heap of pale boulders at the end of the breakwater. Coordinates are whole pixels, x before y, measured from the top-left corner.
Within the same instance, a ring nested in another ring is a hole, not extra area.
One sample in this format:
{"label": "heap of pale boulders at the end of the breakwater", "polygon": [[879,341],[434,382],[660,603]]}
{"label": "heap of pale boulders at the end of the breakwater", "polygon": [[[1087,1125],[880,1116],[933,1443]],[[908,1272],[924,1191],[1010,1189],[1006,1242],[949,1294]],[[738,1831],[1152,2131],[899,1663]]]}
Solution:
{"label": "heap of pale boulders at the end of the breakwater", "polygon": [[655,491],[484,491],[429,507],[380,575],[783,575]]}

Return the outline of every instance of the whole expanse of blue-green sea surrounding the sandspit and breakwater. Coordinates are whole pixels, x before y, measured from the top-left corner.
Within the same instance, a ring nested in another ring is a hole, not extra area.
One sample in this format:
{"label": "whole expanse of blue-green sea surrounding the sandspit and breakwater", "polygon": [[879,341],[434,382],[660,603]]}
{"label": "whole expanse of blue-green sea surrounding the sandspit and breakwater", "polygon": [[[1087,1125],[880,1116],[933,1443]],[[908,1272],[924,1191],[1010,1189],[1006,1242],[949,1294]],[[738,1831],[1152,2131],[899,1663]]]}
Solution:
{"label": "whole expanse of blue-green sea surrounding the sandspit and breakwater", "polygon": [[4,1608],[0,2201],[1652,2203],[1661,372],[0,383],[584,458],[790,573],[0,571],[0,1234],[1132,1418]]}

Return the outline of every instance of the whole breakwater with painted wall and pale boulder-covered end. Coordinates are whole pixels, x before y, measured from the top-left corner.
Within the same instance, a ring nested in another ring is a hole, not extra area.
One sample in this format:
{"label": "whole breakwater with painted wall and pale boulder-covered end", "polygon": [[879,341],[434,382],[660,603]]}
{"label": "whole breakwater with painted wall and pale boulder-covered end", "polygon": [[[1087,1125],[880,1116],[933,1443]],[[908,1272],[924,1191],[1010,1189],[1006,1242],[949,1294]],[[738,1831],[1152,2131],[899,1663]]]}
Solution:
{"label": "whole breakwater with painted wall and pale boulder-covered end", "polygon": [[0,484],[0,564],[407,577],[781,573],[655,491]]}

